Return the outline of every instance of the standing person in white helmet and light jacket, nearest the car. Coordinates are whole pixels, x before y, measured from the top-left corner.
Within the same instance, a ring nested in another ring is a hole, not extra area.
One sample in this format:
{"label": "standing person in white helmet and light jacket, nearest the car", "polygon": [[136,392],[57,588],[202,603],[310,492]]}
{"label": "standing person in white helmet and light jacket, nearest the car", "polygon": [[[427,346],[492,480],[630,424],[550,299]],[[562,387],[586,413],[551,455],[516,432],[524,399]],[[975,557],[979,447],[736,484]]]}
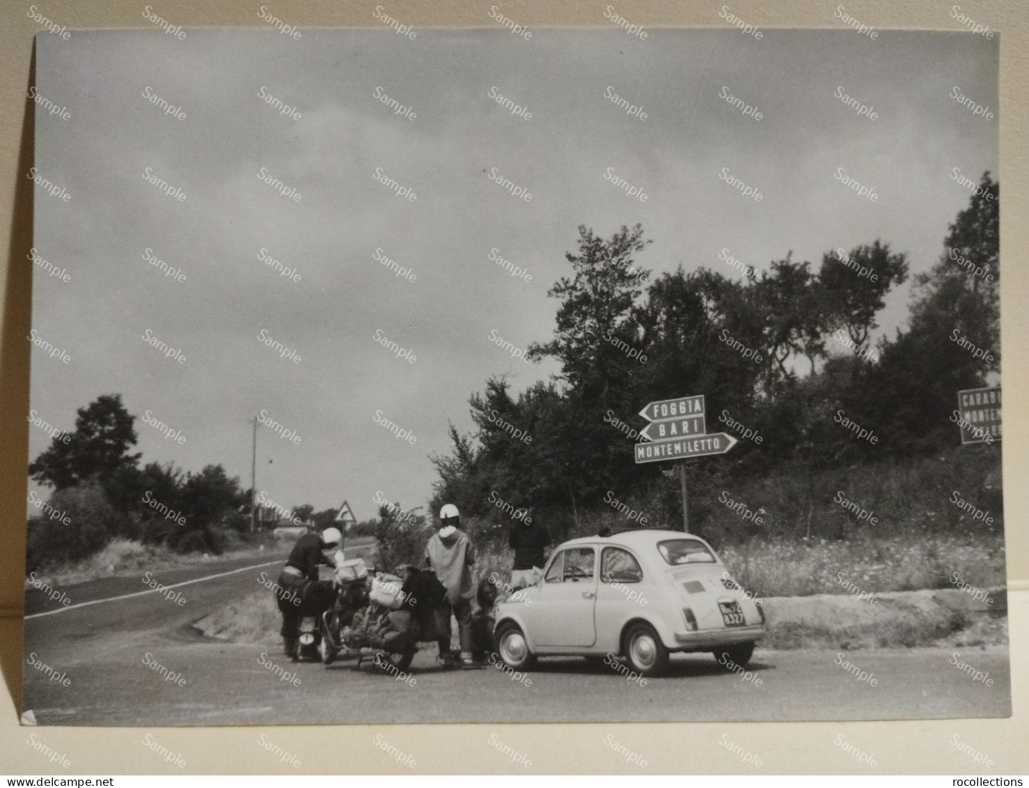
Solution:
{"label": "standing person in white helmet and light jacket, nearest the car", "polygon": [[[439,631],[439,661],[445,665],[471,665],[472,627],[471,599],[474,589],[471,584],[471,570],[475,562],[475,547],[468,535],[459,529],[461,514],[453,504],[439,510],[437,530],[425,545],[425,563],[436,573],[436,577],[447,587],[447,596],[436,610],[436,626]],[[457,660],[451,653],[451,614],[457,619],[461,654]]]}

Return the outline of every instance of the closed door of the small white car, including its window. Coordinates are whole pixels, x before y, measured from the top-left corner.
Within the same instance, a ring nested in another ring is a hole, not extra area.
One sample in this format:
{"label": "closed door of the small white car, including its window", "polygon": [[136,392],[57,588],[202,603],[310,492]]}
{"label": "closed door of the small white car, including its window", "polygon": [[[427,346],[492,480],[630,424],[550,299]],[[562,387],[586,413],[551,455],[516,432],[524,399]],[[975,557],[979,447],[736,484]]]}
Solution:
{"label": "closed door of the small white car, including its window", "polygon": [[597,639],[597,551],[567,547],[554,556],[533,599],[532,640],[538,646],[592,646]]}

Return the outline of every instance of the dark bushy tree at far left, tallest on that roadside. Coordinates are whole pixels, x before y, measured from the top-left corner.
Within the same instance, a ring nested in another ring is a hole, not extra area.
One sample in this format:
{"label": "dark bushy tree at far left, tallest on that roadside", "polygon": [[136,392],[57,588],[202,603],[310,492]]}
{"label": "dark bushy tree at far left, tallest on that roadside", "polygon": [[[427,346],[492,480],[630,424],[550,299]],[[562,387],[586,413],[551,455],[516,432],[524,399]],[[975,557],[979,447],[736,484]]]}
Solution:
{"label": "dark bushy tree at far left, tallest on that roadside", "polygon": [[103,395],[78,409],[75,432],[55,437],[49,448],[29,465],[29,473],[40,484],[62,490],[86,479],[97,479],[105,488],[127,472],[136,470],[141,454],[136,445],[135,416],[121,404],[121,395]]}

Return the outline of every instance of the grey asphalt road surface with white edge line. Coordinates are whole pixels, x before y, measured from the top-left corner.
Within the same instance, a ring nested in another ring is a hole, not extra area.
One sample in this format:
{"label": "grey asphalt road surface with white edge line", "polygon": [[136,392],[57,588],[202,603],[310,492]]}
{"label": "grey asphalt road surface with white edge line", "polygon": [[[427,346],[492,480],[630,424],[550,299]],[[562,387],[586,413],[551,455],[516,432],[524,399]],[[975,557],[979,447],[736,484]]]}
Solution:
{"label": "grey asphalt road surface with white edge line", "polygon": [[[152,591],[142,574],[60,589],[68,606],[32,589],[26,601],[23,710],[39,724],[221,725],[277,723],[612,722],[1002,717],[1010,714],[1007,651],[962,650],[992,686],[953,663],[953,649],[832,651],[758,648],[752,676],[724,673],[710,654],[673,656],[646,686],[603,662],[540,659],[527,681],[488,666],[445,671],[423,646],[406,681],[365,662],[293,664],[278,631],[227,644],[192,628],[226,603],[260,590],[282,555],[207,563],[151,578],[184,604]],[[258,566],[271,562],[272,566]],[[142,591],[142,593],[140,593]],[[271,591],[269,591],[271,593]],[[133,595],[134,594],[134,595]],[[80,607],[79,607],[80,606]],[[31,656],[34,655],[34,656]],[[64,674],[51,681],[41,662]],[[159,664],[181,675],[166,681]],[[295,672],[283,681],[279,672]],[[872,684],[875,678],[875,685]],[[760,684],[757,684],[760,679]]]}

